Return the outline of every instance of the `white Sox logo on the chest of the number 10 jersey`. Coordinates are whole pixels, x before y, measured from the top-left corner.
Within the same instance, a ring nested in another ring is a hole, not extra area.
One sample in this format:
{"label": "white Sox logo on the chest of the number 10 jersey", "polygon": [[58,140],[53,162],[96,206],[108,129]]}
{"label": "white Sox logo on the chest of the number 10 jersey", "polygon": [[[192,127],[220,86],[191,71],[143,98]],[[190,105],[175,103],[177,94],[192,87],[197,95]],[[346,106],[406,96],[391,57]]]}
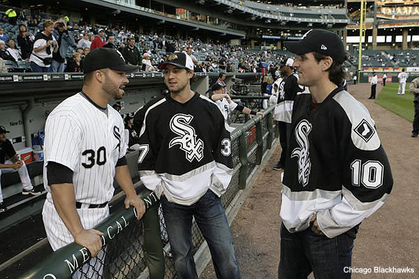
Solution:
{"label": "white Sox logo on the chest of the number 10 jersey", "polygon": [[291,158],[297,157],[298,181],[305,187],[309,183],[311,161],[309,158],[309,133],[311,132],[311,123],[303,119],[295,128],[295,140],[300,147],[297,147],[291,153]]}

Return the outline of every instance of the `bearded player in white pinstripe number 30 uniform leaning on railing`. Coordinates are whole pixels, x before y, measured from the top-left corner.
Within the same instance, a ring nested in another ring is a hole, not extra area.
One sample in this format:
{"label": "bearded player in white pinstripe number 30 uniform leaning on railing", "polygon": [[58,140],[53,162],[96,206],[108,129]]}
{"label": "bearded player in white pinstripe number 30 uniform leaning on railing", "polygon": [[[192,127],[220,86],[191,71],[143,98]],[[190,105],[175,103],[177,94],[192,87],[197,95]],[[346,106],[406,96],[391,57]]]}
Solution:
{"label": "bearded player in white pinstripe number 30 uniform leaning on railing", "polygon": [[75,241],[96,257],[102,233],[91,228],[109,215],[114,177],[126,193],[125,207],[135,206],[138,218],[145,212],[126,164],[122,117],[108,105],[122,98],[126,73],[138,67],[117,50],[98,47],[83,68],[82,91],[59,104],[45,124],[43,222],[53,250]]}

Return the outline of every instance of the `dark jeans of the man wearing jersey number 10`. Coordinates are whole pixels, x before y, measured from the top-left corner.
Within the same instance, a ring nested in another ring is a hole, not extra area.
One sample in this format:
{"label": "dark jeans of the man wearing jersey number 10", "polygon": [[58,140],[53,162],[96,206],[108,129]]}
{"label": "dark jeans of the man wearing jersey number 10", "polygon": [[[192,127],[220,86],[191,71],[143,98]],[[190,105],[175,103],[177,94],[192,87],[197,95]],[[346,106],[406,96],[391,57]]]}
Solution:
{"label": "dark jeans of the man wearing jersey number 10", "polygon": [[[311,227],[291,234],[281,224],[281,258],[279,279],[349,279],[352,264],[353,238],[341,234],[333,239],[316,234]],[[346,269],[344,269],[346,267]],[[345,272],[346,271],[346,272]]]}

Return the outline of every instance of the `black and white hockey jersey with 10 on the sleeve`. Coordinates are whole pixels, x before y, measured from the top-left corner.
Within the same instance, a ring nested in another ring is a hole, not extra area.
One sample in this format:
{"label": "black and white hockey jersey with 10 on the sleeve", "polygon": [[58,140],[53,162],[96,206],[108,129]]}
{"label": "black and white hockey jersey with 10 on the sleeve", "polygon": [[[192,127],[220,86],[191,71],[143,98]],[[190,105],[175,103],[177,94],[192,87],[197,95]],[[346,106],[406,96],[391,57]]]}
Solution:
{"label": "black and white hockey jersey with 10 on the sleeve", "polygon": [[281,218],[298,232],[317,213],[321,231],[332,238],[383,205],[393,179],[364,105],[338,87],[314,112],[310,106],[311,94],[295,98]]}

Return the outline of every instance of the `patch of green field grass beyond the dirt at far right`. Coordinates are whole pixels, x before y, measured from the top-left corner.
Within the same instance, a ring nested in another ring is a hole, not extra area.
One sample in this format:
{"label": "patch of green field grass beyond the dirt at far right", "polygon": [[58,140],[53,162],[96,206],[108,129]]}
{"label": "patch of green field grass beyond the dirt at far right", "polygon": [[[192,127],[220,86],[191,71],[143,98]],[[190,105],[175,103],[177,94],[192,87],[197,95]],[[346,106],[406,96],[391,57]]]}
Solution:
{"label": "patch of green field grass beyond the dirt at far right", "polygon": [[413,94],[409,93],[409,85],[409,83],[406,84],[404,95],[397,95],[398,83],[385,84],[381,93],[378,94],[376,104],[413,122]]}

